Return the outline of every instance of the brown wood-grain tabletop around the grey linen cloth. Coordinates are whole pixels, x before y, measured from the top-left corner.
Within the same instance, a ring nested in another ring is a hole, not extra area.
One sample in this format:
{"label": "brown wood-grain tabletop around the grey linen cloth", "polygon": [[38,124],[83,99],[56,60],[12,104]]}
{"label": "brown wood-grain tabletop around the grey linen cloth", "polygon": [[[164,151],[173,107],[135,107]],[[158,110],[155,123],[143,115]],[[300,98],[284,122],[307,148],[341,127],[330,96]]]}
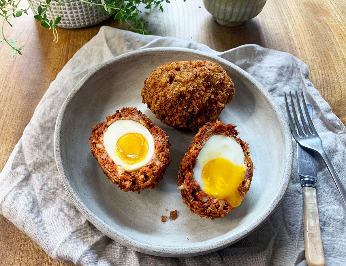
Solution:
{"label": "brown wood-grain tabletop around the grey linen cloth", "polygon": [[[22,1],[24,2],[24,0]],[[22,7],[26,3],[21,3]],[[334,113],[346,122],[346,1],[267,1],[256,18],[237,28],[216,24],[202,0],[172,1],[165,12],[153,11],[152,34],[174,36],[225,51],[243,44],[293,54],[310,69],[310,80]],[[344,11],[343,11],[344,10]],[[57,73],[100,26],[118,27],[109,19],[83,29],[58,29],[59,43],[52,32],[29,16],[12,19],[7,38],[25,44],[22,56],[11,56],[0,43],[0,168],[6,163],[35,107]],[[33,240],[0,216],[0,265],[66,265],[50,258]]]}

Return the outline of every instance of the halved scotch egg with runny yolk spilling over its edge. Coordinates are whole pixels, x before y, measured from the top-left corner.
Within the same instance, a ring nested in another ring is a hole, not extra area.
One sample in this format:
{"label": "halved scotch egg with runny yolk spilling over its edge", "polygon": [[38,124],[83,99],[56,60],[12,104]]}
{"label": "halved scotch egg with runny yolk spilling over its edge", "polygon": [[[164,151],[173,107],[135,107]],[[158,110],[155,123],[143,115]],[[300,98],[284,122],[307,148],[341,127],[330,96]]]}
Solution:
{"label": "halved scotch egg with runny yolk spilling over its edge", "polygon": [[254,166],[246,142],[233,124],[206,123],[182,159],[178,189],[184,203],[200,217],[225,217],[242,203]]}

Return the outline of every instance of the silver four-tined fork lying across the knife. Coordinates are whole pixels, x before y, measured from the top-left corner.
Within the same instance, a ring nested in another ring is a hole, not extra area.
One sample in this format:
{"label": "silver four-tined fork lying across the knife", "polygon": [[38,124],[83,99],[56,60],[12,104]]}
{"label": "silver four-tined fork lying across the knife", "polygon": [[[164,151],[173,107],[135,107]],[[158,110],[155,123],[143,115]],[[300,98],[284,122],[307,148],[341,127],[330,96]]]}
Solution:
{"label": "silver four-tined fork lying across the knife", "polygon": [[[325,164],[328,168],[329,173],[331,174],[331,177],[333,177],[333,180],[334,180],[336,187],[337,187],[337,189],[341,195],[341,198],[343,199],[343,202],[346,205],[345,188],[344,188],[343,184],[341,183],[337,173],[335,172],[335,169],[334,169],[333,165],[331,164],[325,150],[323,149],[322,140],[318,136],[317,131],[316,131],[315,127],[313,126],[313,123],[312,123],[312,120],[311,120],[311,117],[309,115],[308,108],[306,106],[306,102],[304,99],[303,90],[301,90],[301,98],[303,101],[303,107],[304,107],[304,111],[305,111],[305,114],[307,117],[307,121],[305,121],[301,107],[300,107],[297,90],[295,91],[295,99],[297,102],[297,108],[299,110],[300,117],[302,118],[301,120],[302,120],[303,127],[301,127],[299,124],[297,112],[295,111],[295,108],[294,108],[292,93],[290,92],[290,100],[291,100],[291,107],[292,107],[292,113],[293,113],[295,125],[292,121],[291,112],[290,112],[290,108],[288,106],[286,93],[284,93],[284,95],[285,95],[285,103],[286,103],[286,111],[287,111],[288,121],[289,121],[291,132],[292,132],[292,135],[293,135],[295,141],[297,141],[297,143],[300,146],[305,147],[305,148],[310,149],[310,150],[313,150],[322,157],[323,161],[325,162]],[[295,126],[297,126],[298,131],[295,129]]]}

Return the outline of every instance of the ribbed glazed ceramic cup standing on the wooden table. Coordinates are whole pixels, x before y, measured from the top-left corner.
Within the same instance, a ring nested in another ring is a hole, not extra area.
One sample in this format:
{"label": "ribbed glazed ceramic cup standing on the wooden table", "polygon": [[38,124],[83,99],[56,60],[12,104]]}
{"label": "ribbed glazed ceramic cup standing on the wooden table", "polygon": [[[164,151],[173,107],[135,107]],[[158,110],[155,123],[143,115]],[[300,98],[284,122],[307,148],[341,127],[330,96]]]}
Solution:
{"label": "ribbed glazed ceramic cup standing on the wooden table", "polygon": [[203,0],[204,7],[220,25],[234,27],[256,17],[267,0]]}

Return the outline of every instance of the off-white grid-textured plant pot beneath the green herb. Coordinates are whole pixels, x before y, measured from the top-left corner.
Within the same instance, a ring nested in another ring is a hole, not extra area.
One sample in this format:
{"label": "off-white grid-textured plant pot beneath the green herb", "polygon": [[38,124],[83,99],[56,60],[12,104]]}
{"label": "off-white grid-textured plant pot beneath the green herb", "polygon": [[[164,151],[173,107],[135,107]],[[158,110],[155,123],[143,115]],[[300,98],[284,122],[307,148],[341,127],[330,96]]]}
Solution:
{"label": "off-white grid-textured plant pot beneath the green herb", "polygon": [[[39,0],[33,0],[33,8],[36,10],[36,12],[39,3]],[[42,4],[44,3],[45,1],[43,0]],[[101,1],[96,0],[94,3],[101,3]],[[49,6],[52,9],[53,15],[56,16],[59,7],[58,3],[51,1]],[[80,1],[63,4],[59,12],[61,21],[59,22],[58,26],[60,28],[67,29],[83,28],[98,24],[111,16],[108,13],[101,13],[99,8],[100,7],[98,6],[93,6],[90,11],[89,4]],[[47,18],[51,20],[51,13],[47,11],[46,14]]]}

